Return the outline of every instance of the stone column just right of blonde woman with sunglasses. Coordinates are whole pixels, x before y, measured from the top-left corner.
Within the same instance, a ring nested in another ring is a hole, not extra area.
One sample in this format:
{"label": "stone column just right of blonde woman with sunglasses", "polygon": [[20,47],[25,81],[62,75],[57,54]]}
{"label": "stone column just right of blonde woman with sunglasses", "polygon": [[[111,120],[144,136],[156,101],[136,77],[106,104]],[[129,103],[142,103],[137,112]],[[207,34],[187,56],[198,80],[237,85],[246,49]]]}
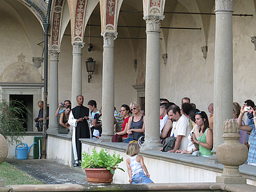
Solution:
{"label": "stone column just right of blonde woman with sunglasses", "polygon": [[145,142],[142,150],[158,150],[160,99],[160,21],[164,15],[147,15],[146,20],[146,84]]}

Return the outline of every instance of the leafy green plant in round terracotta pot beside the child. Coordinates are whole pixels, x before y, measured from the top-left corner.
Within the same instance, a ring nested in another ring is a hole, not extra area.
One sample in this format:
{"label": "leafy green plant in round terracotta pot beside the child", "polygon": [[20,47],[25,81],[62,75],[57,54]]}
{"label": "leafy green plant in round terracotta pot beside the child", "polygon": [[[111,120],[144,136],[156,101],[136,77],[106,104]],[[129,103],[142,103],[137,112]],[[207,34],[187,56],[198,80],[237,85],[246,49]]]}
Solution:
{"label": "leafy green plant in round terracotta pot beside the child", "polygon": [[92,154],[82,152],[81,168],[85,170],[86,180],[89,183],[110,184],[113,181],[113,174],[116,168],[125,172],[122,168],[117,167],[117,164],[122,161],[123,158],[120,158],[120,154],[113,152],[110,155],[103,148],[100,152],[92,149]]}

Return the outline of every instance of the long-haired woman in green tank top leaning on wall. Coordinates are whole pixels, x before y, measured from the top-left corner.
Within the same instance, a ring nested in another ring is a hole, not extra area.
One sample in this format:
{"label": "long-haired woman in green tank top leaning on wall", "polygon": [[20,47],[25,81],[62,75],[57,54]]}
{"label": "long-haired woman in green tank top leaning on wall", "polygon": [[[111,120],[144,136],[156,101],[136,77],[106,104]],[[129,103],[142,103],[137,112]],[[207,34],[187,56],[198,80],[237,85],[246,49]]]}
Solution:
{"label": "long-haired woman in green tank top leaning on wall", "polygon": [[197,112],[195,115],[195,123],[197,127],[195,127],[193,135],[191,135],[191,141],[195,144],[195,147],[199,149],[201,156],[211,156],[213,133],[212,129],[209,127],[207,113]]}

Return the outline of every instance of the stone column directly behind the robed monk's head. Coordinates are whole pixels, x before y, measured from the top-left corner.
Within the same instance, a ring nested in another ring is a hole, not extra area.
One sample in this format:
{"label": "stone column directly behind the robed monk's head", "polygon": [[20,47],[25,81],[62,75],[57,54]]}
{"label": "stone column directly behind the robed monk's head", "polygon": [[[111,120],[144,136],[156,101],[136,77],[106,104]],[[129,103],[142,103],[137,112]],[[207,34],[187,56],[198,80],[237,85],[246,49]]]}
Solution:
{"label": "stone column directly behind the robed monk's head", "polygon": [[82,94],[82,48],[83,42],[73,44],[72,92],[71,104],[77,106],[77,96]]}

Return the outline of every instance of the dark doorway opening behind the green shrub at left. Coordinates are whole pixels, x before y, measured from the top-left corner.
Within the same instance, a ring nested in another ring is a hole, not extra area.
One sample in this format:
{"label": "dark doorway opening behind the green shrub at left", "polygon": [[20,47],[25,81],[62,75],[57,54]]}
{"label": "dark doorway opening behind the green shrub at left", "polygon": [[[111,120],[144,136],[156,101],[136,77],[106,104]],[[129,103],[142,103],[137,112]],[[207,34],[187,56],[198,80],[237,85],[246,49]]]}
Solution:
{"label": "dark doorway opening behind the green shrub at left", "polygon": [[[24,104],[30,111],[30,113],[24,113],[24,118],[26,121],[23,123],[23,127],[26,129],[26,131],[33,131],[33,95],[28,94],[10,94],[9,100],[17,100]],[[20,115],[20,118],[21,115]]]}

